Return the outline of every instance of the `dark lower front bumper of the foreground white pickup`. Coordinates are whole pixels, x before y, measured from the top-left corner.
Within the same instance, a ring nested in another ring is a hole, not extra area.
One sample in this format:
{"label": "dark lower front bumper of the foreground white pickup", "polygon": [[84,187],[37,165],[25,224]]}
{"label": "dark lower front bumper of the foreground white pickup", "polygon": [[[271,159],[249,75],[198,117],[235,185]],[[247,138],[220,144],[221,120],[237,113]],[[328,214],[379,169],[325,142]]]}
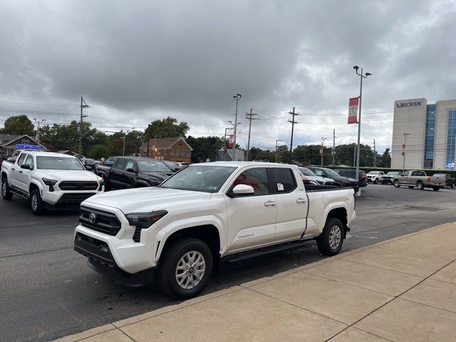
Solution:
{"label": "dark lower front bumper of the foreground white pickup", "polygon": [[155,267],[150,267],[135,274],[120,269],[115,263],[113,254],[106,242],[76,232],[74,249],[76,252],[88,257],[87,264],[91,269],[120,284],[136,287],[152,284],[154,281]]}

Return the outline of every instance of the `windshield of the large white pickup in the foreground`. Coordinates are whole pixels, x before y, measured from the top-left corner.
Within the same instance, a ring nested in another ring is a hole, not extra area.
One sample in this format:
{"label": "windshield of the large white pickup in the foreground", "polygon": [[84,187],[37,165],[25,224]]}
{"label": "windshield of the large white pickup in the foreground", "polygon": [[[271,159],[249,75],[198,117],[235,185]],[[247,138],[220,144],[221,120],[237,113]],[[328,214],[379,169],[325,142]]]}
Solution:
{"label": "windshield of the large white pickup in the foreground", "polygon": [[170,189],[217,192],[236,167],[189,166],[165,180],[160,187]]}

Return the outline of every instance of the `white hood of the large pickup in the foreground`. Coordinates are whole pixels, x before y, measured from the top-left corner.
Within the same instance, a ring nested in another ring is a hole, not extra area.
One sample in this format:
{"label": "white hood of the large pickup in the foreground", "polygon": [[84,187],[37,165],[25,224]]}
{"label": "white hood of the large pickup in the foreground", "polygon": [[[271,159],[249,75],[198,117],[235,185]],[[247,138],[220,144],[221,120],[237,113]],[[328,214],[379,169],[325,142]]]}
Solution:
{"label": "white hood of the large pickup in the foreground", "polygon": [[188,190],[165,189],[163,187],[139,187],[128,190],[115,190],[94,195],[81,205],[90,207],[90,203],[114,207],[125,214],[130,212],[152,212],[166,209],[176,202],[199,202],[207,200],[212,194]]}

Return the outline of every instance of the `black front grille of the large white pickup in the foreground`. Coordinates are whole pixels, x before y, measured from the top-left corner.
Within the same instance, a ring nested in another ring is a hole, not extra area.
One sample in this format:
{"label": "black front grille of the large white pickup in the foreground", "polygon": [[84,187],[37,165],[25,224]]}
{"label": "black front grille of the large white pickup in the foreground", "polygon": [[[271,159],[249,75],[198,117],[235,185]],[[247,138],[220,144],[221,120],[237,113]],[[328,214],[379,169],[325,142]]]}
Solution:
{"label": "black front grille of the large white pickup in the foreground", "polygon": [[[95,214],[95,219],[90,222],[90,214]],[[90,229],[102,232],[108,235],[116,235],[120,230],[120,221],[113,212],[105,212],[99,209],[81,206],[81,216],[79,223]]]}

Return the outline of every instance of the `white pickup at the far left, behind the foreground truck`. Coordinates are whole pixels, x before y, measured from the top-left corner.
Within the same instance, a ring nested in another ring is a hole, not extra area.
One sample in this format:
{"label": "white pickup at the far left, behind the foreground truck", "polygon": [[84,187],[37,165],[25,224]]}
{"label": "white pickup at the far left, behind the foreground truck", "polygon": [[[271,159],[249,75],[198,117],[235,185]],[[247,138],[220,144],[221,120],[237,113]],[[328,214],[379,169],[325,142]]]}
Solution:
{"label": "white pickup at the far left, behind the foreground truck", "polygon": [[41,214],[103,192],[104,181],[87,171],[71,155],[22,151],[14,162],[1,164],[1,197],[13,195],[30,201],[31,212]]}

